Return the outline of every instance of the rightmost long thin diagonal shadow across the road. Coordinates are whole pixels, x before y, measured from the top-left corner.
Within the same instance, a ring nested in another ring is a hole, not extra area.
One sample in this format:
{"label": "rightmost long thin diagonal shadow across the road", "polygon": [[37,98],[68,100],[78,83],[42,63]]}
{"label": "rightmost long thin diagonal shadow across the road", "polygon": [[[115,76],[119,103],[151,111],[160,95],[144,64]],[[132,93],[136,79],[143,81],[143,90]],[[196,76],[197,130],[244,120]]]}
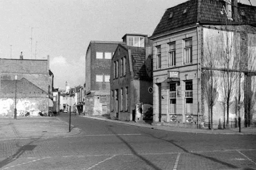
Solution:
{"label": "rightmost long thin diagonal shadow across the road", "polygon": [[192,155],[195,155],[195,156],[199,156],[199,157],[202,157],[202,158],[209,159],[209,160],[211,160],[211,161],[220,163],[220,164],[222,164],[222,165],[228,166],[228,167],[233,168],[233,169],[239,168],[239,167],[237,167],[237,166],[235,166],[235,165],[229,164],[229,163],[227,163],[227,162],[221,161],[221,160],[216,159],[216,158],[212,158],[212,157],[209,157],[209,156],[205,156],[205,155],[202,155],[202,154],[199,154],[199,153],[189,152],[189,151],[186,150],[185,148],[183,148],[183,147],[181,147],[180,145],[176,144],[173,140],[166,140],[166,139],[164,139],[164,137],[167,137],[167,135],[162,136],[162,137],[156,137],[156,136],[154,136],[154,135],[152,135],[152,134],[150,134],[150,133],[146,133],[146,132],[141,131],[141,130],[140,130],[140,132],[141,132],[142,134],[148,135],[148,136],[150,136],[150,137],[153,137],[153,138],[156,138],[156,139],[159,139],[159,140],[168,142],[168,143],[170,143],[170,144],[173,144],[174,146],[180,148],[183,152],[186,152],[186,153],[189,153],[189,154],[192,154]]}

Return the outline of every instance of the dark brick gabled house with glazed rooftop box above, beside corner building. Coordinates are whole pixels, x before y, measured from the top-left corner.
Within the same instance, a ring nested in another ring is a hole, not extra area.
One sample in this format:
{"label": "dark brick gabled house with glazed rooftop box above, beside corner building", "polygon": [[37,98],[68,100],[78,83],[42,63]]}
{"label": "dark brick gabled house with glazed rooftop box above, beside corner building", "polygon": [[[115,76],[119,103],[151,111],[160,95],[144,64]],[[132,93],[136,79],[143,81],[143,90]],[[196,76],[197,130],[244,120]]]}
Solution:
{"label": "dark brick gabled house with glazed rooftop box above, beside corner building", "polygon": [[125,34],[123,41],[111,59],[110,117],[135,121],[137,104],[153,104],[152,48],[143,34]]}

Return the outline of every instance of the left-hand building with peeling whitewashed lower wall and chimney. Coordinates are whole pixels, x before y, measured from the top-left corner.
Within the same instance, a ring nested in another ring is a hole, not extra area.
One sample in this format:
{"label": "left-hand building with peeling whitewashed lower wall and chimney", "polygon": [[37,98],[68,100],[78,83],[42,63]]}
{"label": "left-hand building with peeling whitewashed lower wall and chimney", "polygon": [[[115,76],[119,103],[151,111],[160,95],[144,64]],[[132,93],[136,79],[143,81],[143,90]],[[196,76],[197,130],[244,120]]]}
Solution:
{"label": "left-hand building with peeling whitewashed lower wall and chimney", "polygon": [[[48,113],[53,106],[53,73],[47,60],[0,59],[0,115]],[[15,103],[16,101],[16,103]]]}

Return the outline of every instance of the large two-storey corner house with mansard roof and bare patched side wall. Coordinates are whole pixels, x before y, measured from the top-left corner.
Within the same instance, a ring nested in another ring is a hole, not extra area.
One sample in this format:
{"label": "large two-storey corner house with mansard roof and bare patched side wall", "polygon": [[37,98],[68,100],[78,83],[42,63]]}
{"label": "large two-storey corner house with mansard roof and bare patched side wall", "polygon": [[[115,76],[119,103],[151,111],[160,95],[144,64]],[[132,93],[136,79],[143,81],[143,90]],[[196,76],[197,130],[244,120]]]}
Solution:
{"label": "large two-storey corner house with mansard roof and bare patched side wall", "polygon": [[[254,86],[252,73],[256,70],[249,70],[248,56],[250,50],[255,55],[255,16],[255,6],[237,0],[189,0],[164,12],[149,37],[154,46],[154,122],[198,128],[207,127],[213,119],[214,127],[221,128],[226,121],[236,121],[237,106],[231,104],[236,103],[238,94],[235,87],[231,88],[227,105],[224,83],[234,78],[233,86],[238,88],[237,74],[241,72],[244,82],[249,83],[242,86],[242,93],[250,93]],[[214,64],[209,63],[212,59],[216,59]],[[218,78],[212,118],[206,96],[206,74],[210,70]],[[249,105],[247,97],[244,110]],[[241,117],[246,119],[244,110],[240,110]]]}

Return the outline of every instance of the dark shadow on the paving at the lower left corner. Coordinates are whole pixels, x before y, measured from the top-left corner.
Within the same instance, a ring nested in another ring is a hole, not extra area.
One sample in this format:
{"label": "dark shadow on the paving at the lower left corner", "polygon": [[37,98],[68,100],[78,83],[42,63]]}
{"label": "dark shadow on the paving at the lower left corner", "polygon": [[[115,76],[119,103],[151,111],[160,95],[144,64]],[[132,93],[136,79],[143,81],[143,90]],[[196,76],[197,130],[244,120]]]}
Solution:
{"label": "dark shadow on the paving at the lower left corner", "polygon": [[[43,137],[43,136],[41,136]],[[8,165],[9,163],[13,162],[15,159],[18,159],[20,158],[20,156],[26,152],[26,151],[32,151],[36,148],[37,145],[33,145],[34,142],[38,141],[41,137],[39,137],[38,139],[35,139],[31,142],[29,142],[28,144],[26,145],[23,145],[23,146],[19,146],[18,144],[16,144],[16,146],[19,147],[18,151],[16,153],[14,153],[13,155],[7,157],[6,159],[0,161],[0,168],[5,166],[5,165]]]}

